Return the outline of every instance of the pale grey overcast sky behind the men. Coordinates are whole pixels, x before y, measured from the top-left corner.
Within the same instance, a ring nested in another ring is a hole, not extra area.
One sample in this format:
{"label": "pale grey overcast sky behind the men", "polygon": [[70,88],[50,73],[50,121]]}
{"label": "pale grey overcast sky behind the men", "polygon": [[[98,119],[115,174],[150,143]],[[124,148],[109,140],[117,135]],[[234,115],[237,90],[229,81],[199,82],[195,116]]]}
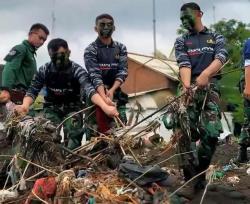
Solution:
{"label": "pale grey overcast sky behind the men", "polygon": [[[55,0],[55,32],[51,37],[68,41],[71,59],[84,65],[83,52],[95,40],[95,17],[109,13],[115,19],[114,40],[127,46],[129,52],[151,55],[153,0]],[[180,25],[179,9],[185,0],[156,1],[157,49],[168,55],[173,47],[176,29]],[[203,22],[209,26],[225,19],[250,23],[249,0],[197,0],[204,11]],[[215,12],[213,12],[213,6]],[[33,23],[52,28],[53,0],[0,0],[0,62],[15,44],[27,38]],[[37,52],[38,66],[49,60],[48,41]]]}

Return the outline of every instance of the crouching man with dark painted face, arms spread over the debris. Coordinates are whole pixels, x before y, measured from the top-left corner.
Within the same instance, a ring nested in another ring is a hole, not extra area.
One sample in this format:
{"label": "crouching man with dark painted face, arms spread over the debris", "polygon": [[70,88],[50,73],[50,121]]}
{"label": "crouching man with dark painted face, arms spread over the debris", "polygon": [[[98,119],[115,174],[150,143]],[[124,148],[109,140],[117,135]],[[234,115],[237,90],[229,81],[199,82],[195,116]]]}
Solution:
{"label": "crouching man with dark painted face, arms spread over the debris", "polygon": [[[27,113],[40,90],[45,87],[47,94],[44,98],[44,114],[47,119],[56,124],[62,122],[70,113],[82,109],[81,94],[87,95],[108,116],[118,116],[115,106],[107,105],[96,93],[87,72],[69,59],[70,50],[65,40],[60,38],[51,40],[48,44],[48,52],[51,61],[40,67],[26,92],[23,104],[15,107],[19,113]],[[68,135],[69,149],[81,145],[82,126],[81,115],[65,123],[64,132]]]}

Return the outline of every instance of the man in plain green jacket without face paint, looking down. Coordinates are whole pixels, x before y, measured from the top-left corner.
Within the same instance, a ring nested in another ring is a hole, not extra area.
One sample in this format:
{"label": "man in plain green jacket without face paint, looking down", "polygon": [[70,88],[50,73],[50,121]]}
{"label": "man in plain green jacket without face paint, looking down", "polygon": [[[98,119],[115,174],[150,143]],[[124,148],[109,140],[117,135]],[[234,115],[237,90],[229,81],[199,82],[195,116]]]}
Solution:
{"label": "man in plain green jacket without face paint, looking down", "polygon": [[36,67],[36,50],[43,45],[49,35],[48,28],[40,23],[31,26],[27,40],[13,47],[4,58],[6,64],[2,73],[0,102],[11,100],[21,103],[29,87]]}

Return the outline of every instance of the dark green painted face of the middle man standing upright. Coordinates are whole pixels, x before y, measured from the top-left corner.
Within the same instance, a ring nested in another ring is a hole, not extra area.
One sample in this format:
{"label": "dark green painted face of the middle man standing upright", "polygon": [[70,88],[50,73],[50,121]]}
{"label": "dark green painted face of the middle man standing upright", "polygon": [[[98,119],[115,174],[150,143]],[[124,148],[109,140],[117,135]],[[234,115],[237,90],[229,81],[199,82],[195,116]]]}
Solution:
{"label": "dark green painted face of the middle man standing upright", "polygon": [[114,31],[114,23],[110,19],[100,19],[97,23],[97,31],[100,37],[109,38]]}

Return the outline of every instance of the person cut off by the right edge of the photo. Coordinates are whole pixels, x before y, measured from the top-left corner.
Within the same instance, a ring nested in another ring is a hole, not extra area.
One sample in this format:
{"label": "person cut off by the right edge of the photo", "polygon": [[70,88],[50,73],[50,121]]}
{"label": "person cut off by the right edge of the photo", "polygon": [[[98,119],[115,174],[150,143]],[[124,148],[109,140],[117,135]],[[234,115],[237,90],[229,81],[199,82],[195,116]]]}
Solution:
{"label": "person cut off by the right edge of the photo", "polygon": [[244,96],[244,124],[240,133],[240,150],[238,162],[248,162],[247,147],[250,146],[250,38],[247,39],[243,48],[244,75],[240,88]]}

